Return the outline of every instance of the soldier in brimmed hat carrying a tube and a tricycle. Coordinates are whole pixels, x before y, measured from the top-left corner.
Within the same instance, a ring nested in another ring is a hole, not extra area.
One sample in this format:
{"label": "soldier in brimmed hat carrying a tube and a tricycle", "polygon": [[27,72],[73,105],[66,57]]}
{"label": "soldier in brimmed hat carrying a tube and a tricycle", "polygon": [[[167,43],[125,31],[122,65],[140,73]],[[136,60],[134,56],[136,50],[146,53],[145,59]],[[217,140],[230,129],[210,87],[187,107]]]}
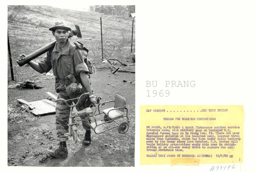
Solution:
{"label": "soldier in brimmed hat carrying a tube and a tricycle", "polygon": [[[74,73],[76,81],[83,86],[82,93],[89,92],[89,97],[84,96],[79,105],[77,105],[78,110],[82,110],[86,106],[88,107],[88,105],[91,103],[96,106],[96,99],[92,93],[90,80],[87,75],[89,70],[84,63],[82,52],[80,49],[75,48],[75,45],[71,44],[70,40],[67,38],[68,31],[71,29],[67,27],[64,21],[57,21],[49,30],[52,31],[53,36],[57,41],[55,47],[47,52],[47,55],[41,62],[36,63],[30,61],[28,62],[28,65],[40,73],[47,73],[53,69],[53,75],[55,76],[55,91],[59,93],[58,99],[71,99],[66,91],[68,83],[65,78],[66,76]],[[74,54],[70,53],[71,48],[75,48]],[[18,60],[24,60],[25,57],[25,54],[20,54]],[[72,64],[74,65],[74,69]],[[72,72],[72,70],[74,72]],[[85,105],[84,102],[87,99],[87,105]],[[60,142],[60,146],[55,151],[50,151],[50,154],[53,157],[67,157],[68,155],[68,149],[66,145],[68,136],[65,136],[64,134],[69,132],[69,114],[69,106],[67,106],[63,101],[57,102],[55,124],[57,130],[57,140]],[[81,117],[81,119],[85,119],[85,117]],[[88,124],[85,123],[85,121],[83,121],[82,124],[86,130],[83,143],[85,145],[89,145],[91,143],[91,128]]]}

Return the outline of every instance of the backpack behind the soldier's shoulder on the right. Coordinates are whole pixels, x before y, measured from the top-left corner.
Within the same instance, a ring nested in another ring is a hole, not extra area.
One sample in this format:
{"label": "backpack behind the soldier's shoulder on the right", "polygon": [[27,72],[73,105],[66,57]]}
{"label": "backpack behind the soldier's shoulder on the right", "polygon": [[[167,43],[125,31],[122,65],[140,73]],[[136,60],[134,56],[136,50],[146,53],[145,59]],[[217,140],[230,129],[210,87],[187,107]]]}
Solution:
{"label": "backpack behind the soldier's shoulder on the right", "polygon": [[81,50],[82,55],[84,57],[84,63],[86,63],[88,70],[89,70],[89,74],[93,74],[96,73],[95,67],[93,66],[92,62],[90,62],[89,59],[87,59],[88,56],[88,52],[89,50],[85,47],[83,47],[83,44],[79,41],[74,42],[75,45],[71,44],[71,47],[69,49],[71,55],[74,55],[75,49],[78,48]]}

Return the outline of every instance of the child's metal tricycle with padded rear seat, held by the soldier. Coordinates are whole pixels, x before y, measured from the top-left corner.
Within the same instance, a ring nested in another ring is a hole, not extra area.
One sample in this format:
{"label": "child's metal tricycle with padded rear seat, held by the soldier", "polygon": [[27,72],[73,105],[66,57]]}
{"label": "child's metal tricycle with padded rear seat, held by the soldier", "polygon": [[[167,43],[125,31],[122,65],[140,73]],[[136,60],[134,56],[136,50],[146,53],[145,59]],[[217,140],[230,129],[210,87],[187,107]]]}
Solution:
{"label": "child's metal tricycle with padded rear seat, held by the soldier", "polygon": [[[56,99],[55,102],[58,101],[64,101],[66,103],[66,105],[68,105],[70,107],[70,116],[69,116],[69,133],[66,133],[65,135],[70,136],[73,140],[74,143],[77,143],[78,140],[78,134],[77,134],[77,126],[78,123],[77,121],[85,121],[96,134],[100,134],[103,133],[105,131],[111,130],[113,128],[117,127],[117,131],[120,134],[124,134],[128,131],[129,129],[129,118],[128,118],[128,109],[126,107],[126,100],[125,98],[123,98],[120,95],[116,95],[115,96],[115,100],[112,101],[105,101],[105,102],[101,102],[99,103],[99,100],[101,100],[101,97],[96,97],[97,99],[97,106],[93,107],[93,105],[90,105],[89,107],[80,110],[80,111],[75,111],[74,107],[76,105],[78,105],[80,99],[82,98],[82,96],[85,95],[89,95],[89,93],[84,93],[81,94],[79,97],[75,98],[75,99],[69,99],[69,100],[65,100],[65,99]],[[74,101],[76,101],[76,103],[74,103]],[[72,101],[72,105],[69,105],[68,102]],[[107,109],[104,109],[100,112],[100,105],[104,105],[110,102],[114,102],[114,107],[110,107]],[[94,110],[95,108],[95,110]],[[98,110],[98,113],[96,114],[96,111]],[[100,120],[96,119],[96,116],[100,115],[101,118]],[[78,120],[77,117],[79,116],[85,116],[86,119],[85,120]],[[94,122],[92,122],[91,118],[94,119]],[[117,119],[121,119],[121,118],[126,118],[125,121],[122,121],[120,123],[117,123]],[[114,122],[117,125],[108,127],[108,125],[110,123]]]}

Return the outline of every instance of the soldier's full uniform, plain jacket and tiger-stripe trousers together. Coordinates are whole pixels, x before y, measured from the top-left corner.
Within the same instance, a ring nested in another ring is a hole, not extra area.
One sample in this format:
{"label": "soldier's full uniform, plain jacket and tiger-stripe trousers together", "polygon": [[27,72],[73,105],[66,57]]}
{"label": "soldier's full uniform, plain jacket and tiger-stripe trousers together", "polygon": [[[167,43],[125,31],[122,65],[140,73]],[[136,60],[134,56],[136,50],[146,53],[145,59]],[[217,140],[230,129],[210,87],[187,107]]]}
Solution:
{"label": "soldier's full uniform, plain jacket and tiger-stripe trousers together", "polygon": [[[58,99],[70,99],[66,92],[66,84],[65,77],[71,73],[71,65],[70,62],[73,60],[74,56],[74,76],[75,79],[82,84],[80,79],[80,72],[89,73],[87,65],[84,63],[83,55],[80,49],[76,49],[74,54],[70,54],[69,49],[71,46],[75,46],[70,43],[70,40],[67,39],[67,44],[62,50],[58,47],[57,43],[55,47],[47,52],[44,60],[39,62],[39,65],[42,67],[43,72],[49,72],[53,68],[53,75],[55,76],[55,91],[59,93]],[[83,86],[82,93],[87,92]],[[85,101],[88,99],[87,105],[84,105]],[[71,104],[72,102],[70,102]],[[85,107],[88,107],[90,104],[89,96],[84,96],[83,99],[80,100],[79,105],[76,106],[77,110],[82,110]],[[57,129],[57,140],[67,141],[68,136],[64,136],[65,133],[68,133],[68,121],[70,115],[70,107],[65,104],[63,101],[57,102],[56,105],[56,129]],[[86,117],[81,117],[81,119],[85,119]],[[89,130],[90,126],[82,121],[83,128]]]}

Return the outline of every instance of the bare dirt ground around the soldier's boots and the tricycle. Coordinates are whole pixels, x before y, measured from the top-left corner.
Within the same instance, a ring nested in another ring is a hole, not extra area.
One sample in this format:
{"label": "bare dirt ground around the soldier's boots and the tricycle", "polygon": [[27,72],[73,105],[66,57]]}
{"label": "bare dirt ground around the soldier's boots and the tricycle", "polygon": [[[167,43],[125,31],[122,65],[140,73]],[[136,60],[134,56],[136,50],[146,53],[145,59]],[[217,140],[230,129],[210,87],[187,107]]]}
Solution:
{"label": "bare dirt ground around the soldier's boots and the tricycle", "polygon": [[[26,66],[23,67],[25,68]],[[135,71],[135,66],[123,67],[123,69]],[[92,88],[95,96],[102,97],[101,102],[114,100],[116,94],[126,98],[130,123],[129,130],[125,134],[119,134],[117,128],[102,134],[92,132],[92,143],[89,146],[85,146],[82,144],[85,131],[82,125],[79,125],[78,134],[80,142],[74,144],[71,138],[67,141],[68,157],[62,159],[47,158],[46,162],[43,163],[40,160],[46,154],[45,150],[54,150],[59,146],[58,141],[55,139],[55,114],[43,115],[37,118],[29,114],[31,116],[23,120],[20,118],[8,118],[8,165],[134,166],[135,73],[116,72],[112,74],[112,72],[110,68],[97,69],[96,74],[91,75]],[[52,70],[50,73],[52,73]],[[45,93],[47,91],[56,95],[54,77],[40,75],[37,72],[33,74],[36,75],[37,84],[43,86],[43,88],[9,88],[8,108],[21,108],[19,105],[16,105],[15,98],[32,102],[49,98],[49,95]],[[127,82],[123,82],[123,80]],[[9,82],[8,86],[11,84]],[[101,108],[104,109],[111,106],[113,104],[106,104],[101,106]],[[8,113],[9,115],[11,113],[9,109]]]}

